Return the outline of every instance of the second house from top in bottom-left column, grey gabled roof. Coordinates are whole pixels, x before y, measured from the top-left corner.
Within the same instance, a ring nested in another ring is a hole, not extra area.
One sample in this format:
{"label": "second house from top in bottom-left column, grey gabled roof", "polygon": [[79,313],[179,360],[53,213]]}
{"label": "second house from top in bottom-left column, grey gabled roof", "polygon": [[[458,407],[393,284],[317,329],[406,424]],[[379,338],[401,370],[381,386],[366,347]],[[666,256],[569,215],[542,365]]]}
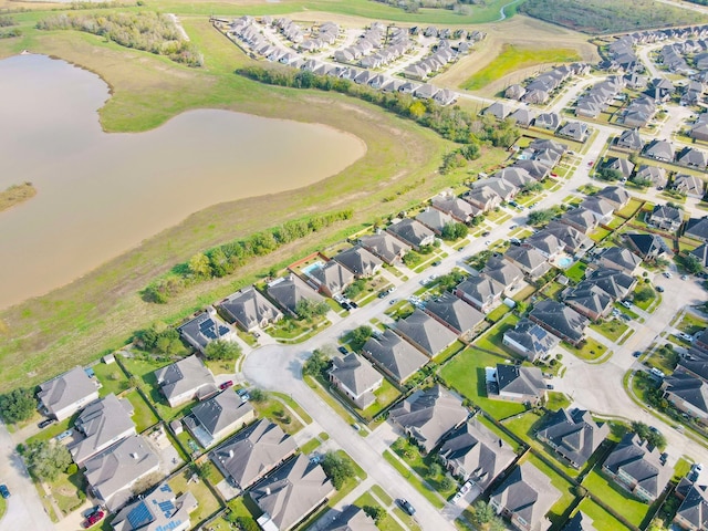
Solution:
{"label": "second house from top in bottom-left column, grey gabled roof", "polygon": [[69,446],[74,462],[81,467],[111,445],[135,435],[132,415],[133,406],[127,398],[118,399],[113,393],[84,407],[74,421],[82,437]]}

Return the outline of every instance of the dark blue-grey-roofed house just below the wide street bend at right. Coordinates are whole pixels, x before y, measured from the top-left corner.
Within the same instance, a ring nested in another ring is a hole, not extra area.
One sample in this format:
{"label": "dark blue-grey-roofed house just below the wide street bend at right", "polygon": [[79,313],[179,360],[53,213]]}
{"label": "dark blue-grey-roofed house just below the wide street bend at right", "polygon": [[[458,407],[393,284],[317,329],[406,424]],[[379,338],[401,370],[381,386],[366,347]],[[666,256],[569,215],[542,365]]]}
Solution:
{"label": "dark blue-grey-roofed house just below the wide street bend at right", "polygon": [[607,423],[597,424],[584,409],[550,414],[537,438],[555,450],[571,467],[582,468],[610,435]]}

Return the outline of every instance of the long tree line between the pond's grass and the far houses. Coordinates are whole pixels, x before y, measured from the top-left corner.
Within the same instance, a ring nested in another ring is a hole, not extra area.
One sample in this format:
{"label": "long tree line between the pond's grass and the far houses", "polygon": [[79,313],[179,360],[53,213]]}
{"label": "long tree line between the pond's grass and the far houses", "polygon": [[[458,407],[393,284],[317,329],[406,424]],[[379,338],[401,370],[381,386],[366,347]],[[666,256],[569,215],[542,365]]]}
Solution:
{"label": "long tree line between the pond's grass and the far houses", "polygon": [[319,75],[278,64],[251,65],[236,72],[270,85],[319,88],[358,97],[398,116],[414,119],[444,138],[460,144],[486,143],[496,147],[509,147],[519,137],[519,129],[511,121],[497,122],[490,117],[479,117],[457,105],[442,106],[433,100],[416,100],[410,94],[402,92],[377,91],[341,77]]}

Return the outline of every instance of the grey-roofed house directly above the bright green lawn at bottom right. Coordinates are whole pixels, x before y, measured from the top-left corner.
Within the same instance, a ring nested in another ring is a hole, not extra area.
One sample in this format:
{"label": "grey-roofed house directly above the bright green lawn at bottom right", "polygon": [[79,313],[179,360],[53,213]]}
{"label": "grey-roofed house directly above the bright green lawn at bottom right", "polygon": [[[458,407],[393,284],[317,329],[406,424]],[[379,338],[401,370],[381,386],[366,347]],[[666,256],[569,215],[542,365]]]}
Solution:
{"label": "grey-roofed house directly above the bright green lawn at bottom right", "polygon": [[652,502],[662,494],[673,475],[671,467],[663,465],[660,456],[658,448],[636,434],[627,434],[607,456],[602,470],[637,498]]}

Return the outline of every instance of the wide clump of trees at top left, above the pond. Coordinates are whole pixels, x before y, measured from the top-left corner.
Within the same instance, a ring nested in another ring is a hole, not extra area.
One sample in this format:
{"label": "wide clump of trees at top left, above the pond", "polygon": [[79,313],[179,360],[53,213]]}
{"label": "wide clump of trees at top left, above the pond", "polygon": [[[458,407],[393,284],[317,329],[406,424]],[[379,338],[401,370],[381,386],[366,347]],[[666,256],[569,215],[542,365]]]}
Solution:
{"label": "wide clump of trees at top left, above the pond", "polygon": [[42,19],[39,30],[79,30],[104,37],[126,48],[165,55],[188,66],[201,66],[204,56],[187,41],[174,20],[152,11],[123,13],[61,13]]}

